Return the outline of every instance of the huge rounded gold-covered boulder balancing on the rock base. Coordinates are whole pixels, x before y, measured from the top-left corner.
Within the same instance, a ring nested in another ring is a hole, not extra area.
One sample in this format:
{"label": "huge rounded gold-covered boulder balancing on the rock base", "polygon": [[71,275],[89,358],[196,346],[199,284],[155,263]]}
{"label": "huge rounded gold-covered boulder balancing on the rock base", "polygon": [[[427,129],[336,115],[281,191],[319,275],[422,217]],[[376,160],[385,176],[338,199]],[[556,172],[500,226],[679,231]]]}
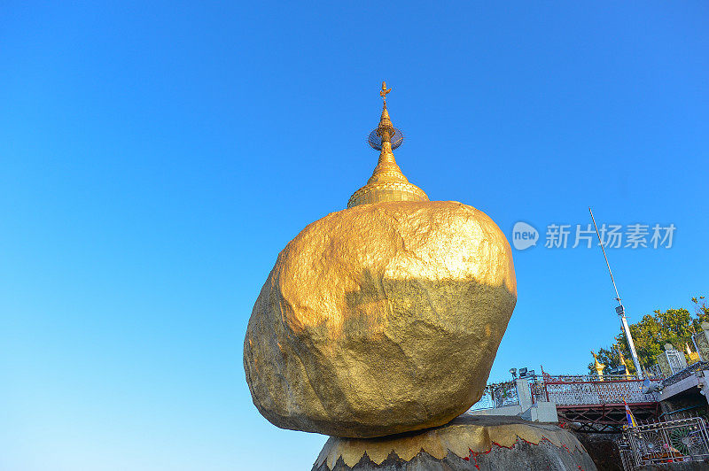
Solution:
{"label": "huge rounded gold-covered boulder balancing on the rock base", "polygon": [[445,424],[481,397],[516,300],[510,244],[471,206],[333,212],[288,243],[253,306],[253,403],[332,436]]}

